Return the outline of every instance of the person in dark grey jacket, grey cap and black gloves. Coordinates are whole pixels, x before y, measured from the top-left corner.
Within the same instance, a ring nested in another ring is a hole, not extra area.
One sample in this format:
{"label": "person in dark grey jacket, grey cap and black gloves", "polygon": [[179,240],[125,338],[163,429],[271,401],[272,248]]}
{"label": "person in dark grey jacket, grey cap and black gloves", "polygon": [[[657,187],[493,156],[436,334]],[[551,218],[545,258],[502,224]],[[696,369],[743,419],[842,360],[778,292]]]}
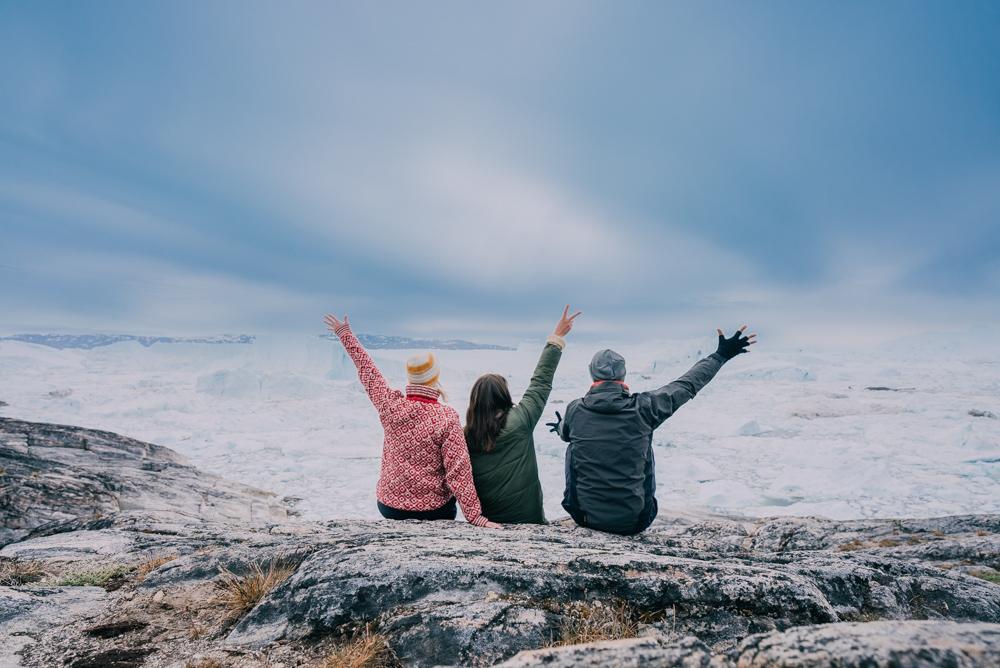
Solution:
{"label": "person in dark grey jacket, grey cap and black gloves", "polygon": [[[651,392],[632,394],[625,384],[625,359],[601,350],[590,362],[590,391],[570,402],[566,417],[549,423],[566,448],[563,508],[583,527],[634,535],[656,517],[653,431],[705,387],[722,365],[748,352],[756,334],[746,325],[726,338],[716,352],[683,376]],[[492,517],[492,515],[491,515]]]}

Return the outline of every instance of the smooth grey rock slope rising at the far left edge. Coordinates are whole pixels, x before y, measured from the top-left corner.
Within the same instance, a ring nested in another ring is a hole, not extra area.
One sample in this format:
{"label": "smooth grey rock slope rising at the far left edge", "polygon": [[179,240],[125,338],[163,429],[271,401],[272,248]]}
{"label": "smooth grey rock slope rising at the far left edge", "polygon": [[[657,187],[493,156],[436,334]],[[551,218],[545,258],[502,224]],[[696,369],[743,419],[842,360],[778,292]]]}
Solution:
{"label": "smooth grey rock slope rising at the far left edge", "polygon": [[289,516],[274,494],[199,471],[169,448],[0,418],[0,545],[50,522],[121,510],[235,521]]}

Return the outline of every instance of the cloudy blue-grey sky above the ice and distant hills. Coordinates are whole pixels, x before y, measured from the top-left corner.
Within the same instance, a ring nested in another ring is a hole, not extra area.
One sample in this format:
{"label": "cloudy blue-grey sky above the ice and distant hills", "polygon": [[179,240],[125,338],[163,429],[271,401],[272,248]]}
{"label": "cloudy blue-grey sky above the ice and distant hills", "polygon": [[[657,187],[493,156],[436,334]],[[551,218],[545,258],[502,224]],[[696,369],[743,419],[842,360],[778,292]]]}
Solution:
{"label": "cloudy blue-grey sky above the ice and distant hills", "polygon": [[996,2],[0,2],[0,91],[0,333],[1000,320]]}

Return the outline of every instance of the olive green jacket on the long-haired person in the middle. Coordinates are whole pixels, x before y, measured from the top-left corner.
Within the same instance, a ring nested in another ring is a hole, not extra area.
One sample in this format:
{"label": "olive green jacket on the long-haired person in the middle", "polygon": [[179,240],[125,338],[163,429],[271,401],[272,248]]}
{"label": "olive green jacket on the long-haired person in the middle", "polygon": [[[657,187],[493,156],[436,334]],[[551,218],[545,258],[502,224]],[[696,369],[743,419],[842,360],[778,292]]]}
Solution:
{"label": "olive green jacket on the long-haired person in the middle", "polygon": [[533,433],[552,391],[560,357],[562,348],[545,344],[528,389],[507,413],[496,446],[491,452],[469,453],[483,515],[493,522],[545,524]]}

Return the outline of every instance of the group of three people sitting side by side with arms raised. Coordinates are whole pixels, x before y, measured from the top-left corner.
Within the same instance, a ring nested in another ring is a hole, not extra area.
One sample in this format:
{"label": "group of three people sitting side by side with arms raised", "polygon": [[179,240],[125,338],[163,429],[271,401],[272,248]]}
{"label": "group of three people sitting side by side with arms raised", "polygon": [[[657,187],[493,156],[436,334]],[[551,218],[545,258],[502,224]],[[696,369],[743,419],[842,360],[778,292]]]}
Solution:
{"label": "group of three people sitting side by side with arms raised", "polygon": [[[472,387],[466,426],[440,403],[443,391],[433,353],[407,361],[405,392],[386,383],[351,332],[347,316],[325,318],[358,369],[385,431],[376,488],[387,519],[455,519],[456,499],[472,524],[544,524],[534,430],[577,312],[569,306],[546,341],[527,390],[513,403],[507,380],[485,374]],[[657,513],[653,432],[691,400],[728,360],[748,352],[755,334],[746,325],[677,380],[631,393],[625,359],[601,350],[590,363],[593,385],[548,423],[569,443],[563,508],[580,526],[623,535],[644,531]],[[489,519],[487,519],[489,518]]]}

